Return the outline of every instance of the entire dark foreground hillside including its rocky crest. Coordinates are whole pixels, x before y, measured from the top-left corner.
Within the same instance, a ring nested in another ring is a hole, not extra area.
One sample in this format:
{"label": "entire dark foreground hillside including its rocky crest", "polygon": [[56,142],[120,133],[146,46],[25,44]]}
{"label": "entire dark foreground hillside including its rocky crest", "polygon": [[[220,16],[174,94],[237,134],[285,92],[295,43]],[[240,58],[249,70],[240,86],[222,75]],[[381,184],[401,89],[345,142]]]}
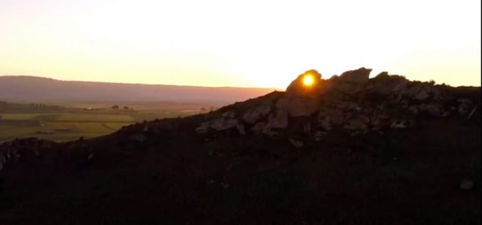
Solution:
{"label": "entire dark foreground hillside including its rocky crest", "polygon": [[2,224],[480,224],[481,88],[360,68],[92,140],[0,145]]}

